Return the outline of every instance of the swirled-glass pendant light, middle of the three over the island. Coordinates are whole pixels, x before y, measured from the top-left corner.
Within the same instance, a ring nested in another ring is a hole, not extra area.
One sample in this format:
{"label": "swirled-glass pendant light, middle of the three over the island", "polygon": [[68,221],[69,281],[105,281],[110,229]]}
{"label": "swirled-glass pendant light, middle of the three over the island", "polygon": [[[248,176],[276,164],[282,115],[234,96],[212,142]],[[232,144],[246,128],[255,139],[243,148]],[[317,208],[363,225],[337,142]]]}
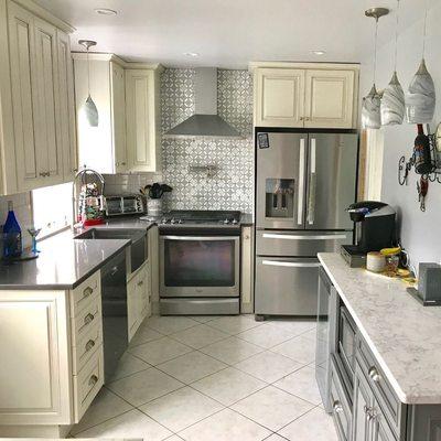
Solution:
{"label": "swirled-glass pendant light, middle of the three over the island", "polygon": [[406,101],[405,92],[398,80],[397,75],[397,53],[398,53],[398,26],[399,26],[399,0],[397,0],[397,21],[395,28],[395,61],[392,77],[383,93],[381,97],[381,125],[396,126],[402,123],[405,119]]}

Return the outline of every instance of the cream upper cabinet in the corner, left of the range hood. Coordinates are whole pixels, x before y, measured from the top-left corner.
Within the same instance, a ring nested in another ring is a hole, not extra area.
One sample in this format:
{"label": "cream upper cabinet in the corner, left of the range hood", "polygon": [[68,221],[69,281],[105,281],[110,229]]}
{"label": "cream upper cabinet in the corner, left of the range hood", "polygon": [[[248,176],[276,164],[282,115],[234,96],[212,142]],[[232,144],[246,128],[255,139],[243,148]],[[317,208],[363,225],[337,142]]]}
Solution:
{"label": "cream upper cabinet in the corner, left of the range hood", "polygon": [[73,56],[79,164],[100,173],[159,170],[158,65],[90,54],[90,96],[99,116],[98,127],[90,127],[82,112],[88,96],[87,56]]}

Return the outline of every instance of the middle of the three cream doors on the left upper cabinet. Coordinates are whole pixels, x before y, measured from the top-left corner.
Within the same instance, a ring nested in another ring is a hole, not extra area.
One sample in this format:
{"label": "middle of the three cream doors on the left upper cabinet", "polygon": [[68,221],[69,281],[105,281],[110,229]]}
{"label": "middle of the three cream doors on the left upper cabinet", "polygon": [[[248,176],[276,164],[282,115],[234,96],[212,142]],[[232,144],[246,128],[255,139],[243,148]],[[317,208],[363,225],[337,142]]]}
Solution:
{"label": "middle of the three cream doors on the left upper cabinet", "polygon": [[63,182],[63,152],[57,139],[60,114],[57,86],[56,29],[47,22],[34,19],[35,33],[35,84],[37,87],[36,151],[41,154],[40,173],[44,184]]}

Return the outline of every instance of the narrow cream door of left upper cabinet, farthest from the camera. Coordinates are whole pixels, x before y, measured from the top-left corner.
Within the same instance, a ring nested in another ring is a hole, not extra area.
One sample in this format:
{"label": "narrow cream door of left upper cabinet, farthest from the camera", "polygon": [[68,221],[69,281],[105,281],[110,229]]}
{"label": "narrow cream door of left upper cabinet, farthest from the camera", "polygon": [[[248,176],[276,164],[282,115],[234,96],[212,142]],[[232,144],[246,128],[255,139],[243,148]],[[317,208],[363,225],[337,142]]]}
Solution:
{"label": "narrow cream door of left upper cabinet, farthest from the camera", "polygon": [[57,139],[63,152],[64,181],[72,181],[77,172],[75,139],[74,77],[71,43],[66,33],[56,31],[58,105]]}

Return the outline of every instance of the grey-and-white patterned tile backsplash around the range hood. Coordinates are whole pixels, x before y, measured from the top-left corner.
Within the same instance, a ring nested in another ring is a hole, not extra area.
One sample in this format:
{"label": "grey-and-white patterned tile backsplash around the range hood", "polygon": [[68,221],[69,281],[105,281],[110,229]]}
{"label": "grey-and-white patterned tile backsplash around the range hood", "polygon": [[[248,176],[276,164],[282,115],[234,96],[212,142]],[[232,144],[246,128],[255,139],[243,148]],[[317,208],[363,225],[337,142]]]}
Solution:
{"label": "grey-and-white patterned tile backsplash around the range hood", "polygon": [[[194,69],[168,68],[161,76],[162,132],[194,114]],[[252,78],[248,71],[217,71],[218,115],[243,140],[162,139],[164,196],[169,209],[254,207]],[[191,171],[212,168],[211,173]]]}

